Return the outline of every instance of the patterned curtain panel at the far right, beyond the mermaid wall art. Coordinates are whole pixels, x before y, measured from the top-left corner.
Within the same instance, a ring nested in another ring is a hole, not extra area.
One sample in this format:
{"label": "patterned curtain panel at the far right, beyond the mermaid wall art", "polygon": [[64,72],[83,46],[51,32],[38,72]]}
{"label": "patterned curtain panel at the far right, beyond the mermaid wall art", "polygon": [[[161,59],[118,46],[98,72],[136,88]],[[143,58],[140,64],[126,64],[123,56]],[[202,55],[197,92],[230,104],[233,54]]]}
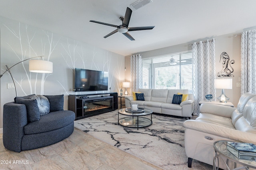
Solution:
{"label": "patterned curtain panel at the far right, beyond the mermaid wall art", "polygon": [[241,95],[256,94],[256,30],[241,35]]}

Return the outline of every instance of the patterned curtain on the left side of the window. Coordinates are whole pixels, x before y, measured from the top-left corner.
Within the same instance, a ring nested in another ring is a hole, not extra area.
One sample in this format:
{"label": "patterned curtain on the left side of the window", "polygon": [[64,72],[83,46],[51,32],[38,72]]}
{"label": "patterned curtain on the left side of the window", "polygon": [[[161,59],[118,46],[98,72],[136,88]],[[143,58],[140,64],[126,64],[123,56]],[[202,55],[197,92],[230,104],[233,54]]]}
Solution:
{"label": "patterned curtain on the left side of the window", "polygon": [[131,91],[138,92],[142,88],[142,59],[141,55],[132,55],[131,61]]}

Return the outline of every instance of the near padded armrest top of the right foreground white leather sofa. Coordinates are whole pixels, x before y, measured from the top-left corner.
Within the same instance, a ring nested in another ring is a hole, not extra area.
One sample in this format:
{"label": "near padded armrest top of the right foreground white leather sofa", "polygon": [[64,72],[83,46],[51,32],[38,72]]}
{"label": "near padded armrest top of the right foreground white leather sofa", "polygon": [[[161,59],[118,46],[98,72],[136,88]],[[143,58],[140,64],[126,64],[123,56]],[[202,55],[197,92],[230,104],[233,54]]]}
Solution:
{"label": "near padded armrest top of the right foreground white leather sofa", "polygon": [[[226,107],[226,106],[225,106]],[[228,138],[230,140],[243,143],[254,143],[256,145],[256,134],[222,127],[213,123],[208,123],[201,120],[186,120],[183,123],[184,127],[196,131]]]}

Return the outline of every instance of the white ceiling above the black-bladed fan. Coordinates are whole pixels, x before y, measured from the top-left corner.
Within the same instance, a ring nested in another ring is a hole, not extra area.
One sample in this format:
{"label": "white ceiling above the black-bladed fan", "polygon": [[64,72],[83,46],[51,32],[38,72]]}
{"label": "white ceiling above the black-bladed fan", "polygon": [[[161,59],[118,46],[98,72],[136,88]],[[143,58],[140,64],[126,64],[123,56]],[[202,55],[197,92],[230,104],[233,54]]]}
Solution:
{"label": "white ceiling above the black-bladed fan", "polygon": [[[58,33],[96,47],[130,55],[214,37],[256,26],[256,0],[153,0],[134,10],[136,0],[0,0],[0,16]],[[152,30],[121,33],[106,39],[120,25],[126,8],[132,9],[129,27],[152,26]]]}

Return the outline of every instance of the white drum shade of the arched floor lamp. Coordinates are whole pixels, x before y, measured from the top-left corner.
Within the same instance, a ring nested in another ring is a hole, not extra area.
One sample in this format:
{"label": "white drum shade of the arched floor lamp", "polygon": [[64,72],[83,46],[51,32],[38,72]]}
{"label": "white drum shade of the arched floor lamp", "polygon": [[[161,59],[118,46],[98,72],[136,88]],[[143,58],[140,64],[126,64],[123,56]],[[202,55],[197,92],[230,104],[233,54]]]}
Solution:
{"label": "white drum shade of the arched floor lamp", "polygon": [[53,70],[52,62],[44,60],[30,60],[29,71],[40,73],[51,73]]}

